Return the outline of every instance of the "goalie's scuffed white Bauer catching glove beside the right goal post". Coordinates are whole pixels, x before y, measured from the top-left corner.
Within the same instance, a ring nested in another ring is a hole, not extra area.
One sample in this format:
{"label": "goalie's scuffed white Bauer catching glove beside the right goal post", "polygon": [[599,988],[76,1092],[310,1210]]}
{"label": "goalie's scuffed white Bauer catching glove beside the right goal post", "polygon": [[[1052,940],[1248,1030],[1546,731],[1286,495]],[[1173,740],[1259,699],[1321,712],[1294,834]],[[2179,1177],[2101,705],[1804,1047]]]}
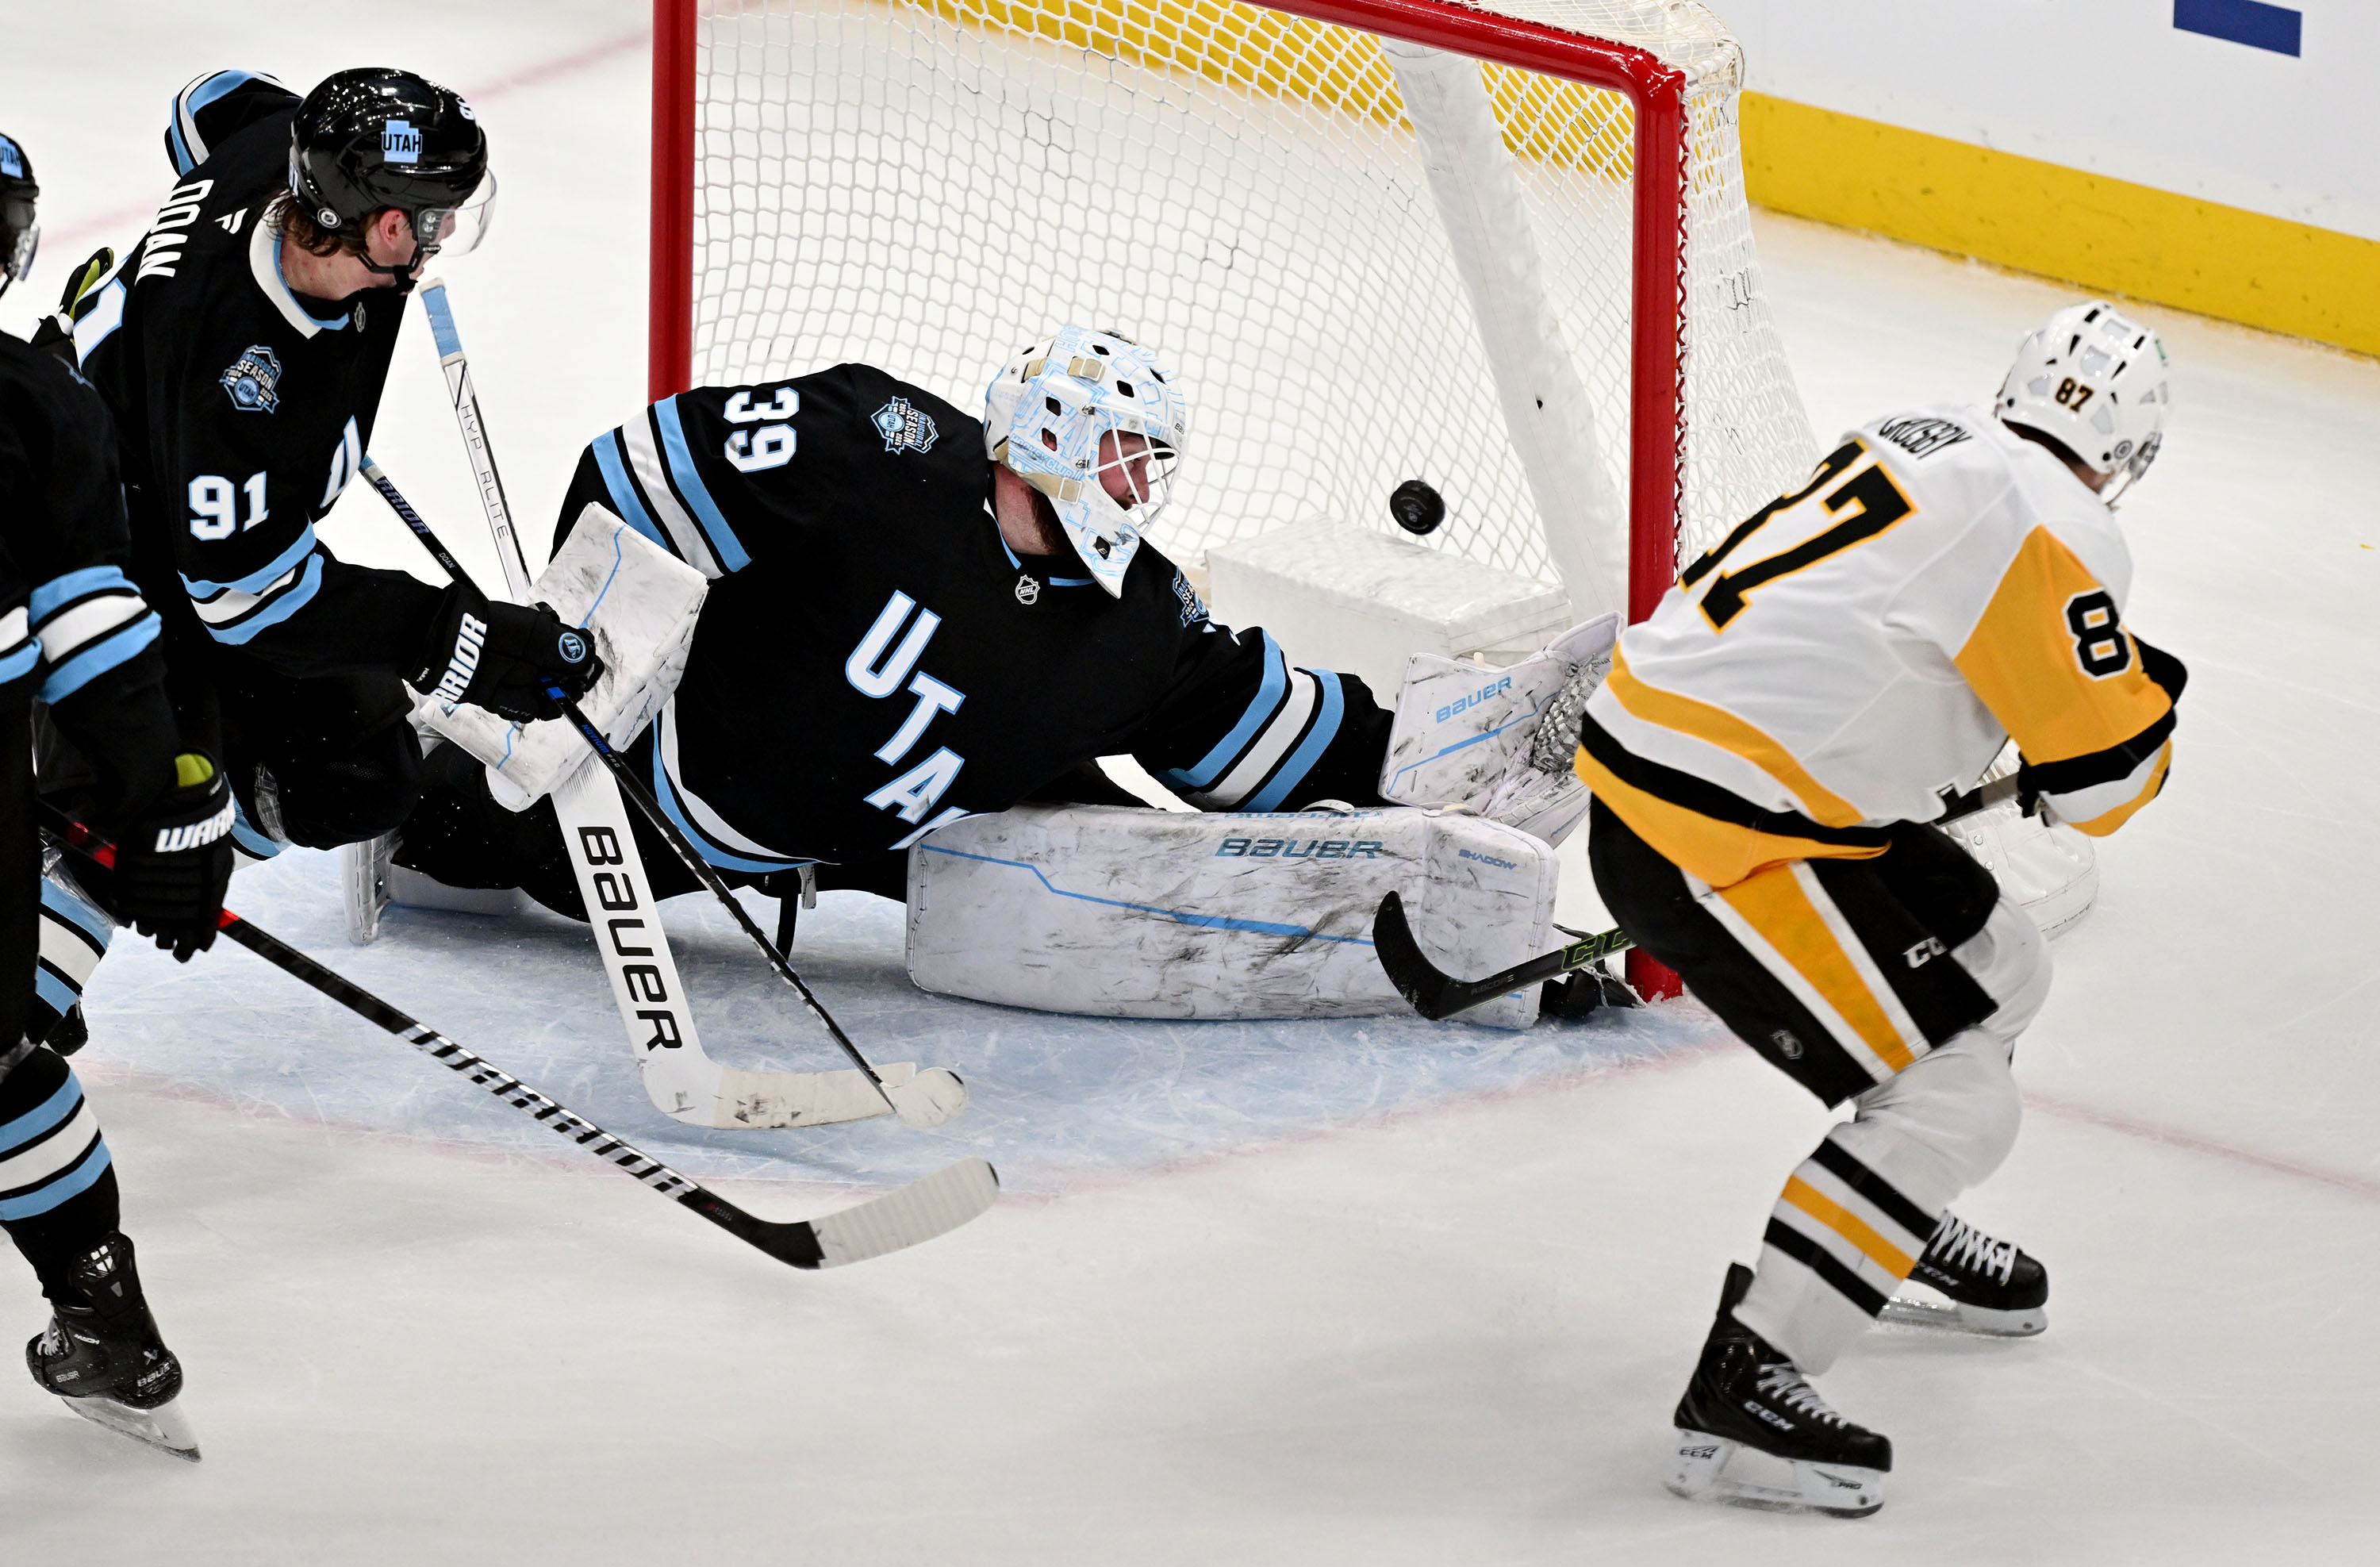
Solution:
{"label": "goalie's scuffed white Bauer catching glove beside the right goal post", "polygon": [[1380,795],[1461,805],[1549,845],[1568,838],[1587,814],[1573,767],[1578,714],[1611,672],[1618,629],[1618,614],[1602,614],[1509,669],[1416,653],[1397,691]]}

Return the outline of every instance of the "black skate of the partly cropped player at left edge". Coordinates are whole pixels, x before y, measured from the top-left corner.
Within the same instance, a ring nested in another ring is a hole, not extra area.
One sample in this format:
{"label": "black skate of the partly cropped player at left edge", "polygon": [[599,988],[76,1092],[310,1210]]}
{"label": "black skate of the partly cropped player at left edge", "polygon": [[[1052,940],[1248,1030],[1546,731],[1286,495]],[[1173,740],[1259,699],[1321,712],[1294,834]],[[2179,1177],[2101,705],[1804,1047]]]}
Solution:
{"label": "black skate of the partly cropped player at left edge", "polygon": [[52,1303],[50,1326],[24,1346],[33,1381],[83,1419],[195,1465],[198,1436],[176,1403],[181,1360],[140,1298],[131,1238],[107,1236],[71,1276],[90,1305]]}

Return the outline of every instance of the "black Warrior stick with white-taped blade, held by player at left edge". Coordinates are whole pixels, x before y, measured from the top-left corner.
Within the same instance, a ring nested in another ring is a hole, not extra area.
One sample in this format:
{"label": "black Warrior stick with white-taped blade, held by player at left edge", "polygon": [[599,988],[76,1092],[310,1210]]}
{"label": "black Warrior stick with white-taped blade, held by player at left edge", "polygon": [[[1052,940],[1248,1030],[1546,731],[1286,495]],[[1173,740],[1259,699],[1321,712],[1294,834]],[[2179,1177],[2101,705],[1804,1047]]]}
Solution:
{"label": "black Warrior stick with white-taped blade, held by player at left edge", "polygon": [[[114,862],[114,845],[98,838],[81,822],[69,819],[52,805],[43,805],[40,814],[50,836],[67,848],[86,855],[95,864]],[[657,1157],[631,1148],[583,1115],[564,1110],[559,1103],[545,1098],[509,1072],[500,1072],[478,1055],[464,1050],[445,1034],[438,1034],[405,1012],[397,1012],[371,991],[340,979],[298,948],[267,936],[231,910],[224,910],[217,929],[283,974],[314,986],[357,1017],[395,1034],[414,1050],[421,1050],[433,1062],[440,1062],[447,1072],[471,1079],[495,1098],[524,1112],[528,1119],[545,1122],[547,1129],[578,1143],[597,1160],[626,1169],[652,1191],[693,1207],[719,1229],[728,1231],[745,1246],[757,1246],[778,1262],[812,1269],[866,1262],[869,1257],[881,1257],[957,1229],[990,1207],[1000,1195],[1000,1174],[992,1172],[985,1160],[957,1160],[954,1165],[945,1165],[942,1169],[888,1191],[881,1198],[869,1198],[857,1207],[845,1207],[843,1212],[826,1215],[823,1219],[793,1219],[790,1224],[759,1219],[743,1207],[735,1207],[716,1191],[678,1174]]]}

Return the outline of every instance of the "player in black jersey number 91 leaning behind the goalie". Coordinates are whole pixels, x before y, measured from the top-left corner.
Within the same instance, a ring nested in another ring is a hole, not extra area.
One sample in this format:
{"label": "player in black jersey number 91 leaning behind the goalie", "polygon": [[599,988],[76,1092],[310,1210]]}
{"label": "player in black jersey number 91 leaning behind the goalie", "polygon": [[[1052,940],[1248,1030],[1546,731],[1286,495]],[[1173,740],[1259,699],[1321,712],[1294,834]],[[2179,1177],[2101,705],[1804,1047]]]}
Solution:
{"label": "player in black jersey number 91 leaning behind the goalie", "polygon": [[62,312],[117,422],[131,574],[183,733],[226,760],[240,848],[369,838],[419,791],[407,679],[533,717],[555,712],[543,679],[576,695],[593,674],[543,607],[314,536],[371,443],[405,293],[486,229],[488,141],[447,88],[355,69],[302,102],[200,76],[164,143],[178,183],[150,231]]}

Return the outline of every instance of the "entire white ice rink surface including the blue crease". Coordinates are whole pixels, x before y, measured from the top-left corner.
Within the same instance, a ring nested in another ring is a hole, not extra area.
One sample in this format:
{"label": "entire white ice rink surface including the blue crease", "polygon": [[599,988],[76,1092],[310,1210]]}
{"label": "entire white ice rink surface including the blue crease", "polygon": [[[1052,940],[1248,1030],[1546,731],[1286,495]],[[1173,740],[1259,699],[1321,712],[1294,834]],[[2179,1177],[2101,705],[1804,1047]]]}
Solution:
{"label": "entire white ice rink surface including the blue crease", "polygon": [[[643,24],[621,0],[14,7],[0,126],[50,238],[0,321],[138,229],[162,105],[202,69],[512,81],[478,93],[497,229],[447,276],[538,536],[643,398]],[[1985,398],[2071,298],[1795,221],[1761,248],[1821,433]],[[1692,1012],[1526,1038],[1057,1022],[904,991],[890,910],[826,900],[802,953],[828,1003],[888,1057],[959,1067],[973,1105],[931,1136],[695,1134],[645,1105],[574,929],[397,912],[359,953],[328,862],[293,855],[233,903],[690,1174],[766,1176],[724,1179],[766,1217],[962,1148],[1012,1195],[795,1274],[245,953],[126,950],[79,1072],[207,1460],[0,1376],[0,1560],[2373,1560],[2380,367],[2142,312],[2180,402],[2123,512],[2130,619],[2190,662],[2180,762],[2102,845],[2018,1053],[2023,1138],[1961,1203],[2049,1262],[2049,1331],[1880,1336],[1823,1379],[1897,1443],[1878,1517],[1661,1493],[1723,1262],[1828,1119],[1697,1045]],[[493,572],[416,331],[374,450]],[[326,538],[409,564],[371,505]],[[714,914],[669,917],[714,1055],[835,1065]],[[40,1324],[5,1260],[0,1324]]]}

